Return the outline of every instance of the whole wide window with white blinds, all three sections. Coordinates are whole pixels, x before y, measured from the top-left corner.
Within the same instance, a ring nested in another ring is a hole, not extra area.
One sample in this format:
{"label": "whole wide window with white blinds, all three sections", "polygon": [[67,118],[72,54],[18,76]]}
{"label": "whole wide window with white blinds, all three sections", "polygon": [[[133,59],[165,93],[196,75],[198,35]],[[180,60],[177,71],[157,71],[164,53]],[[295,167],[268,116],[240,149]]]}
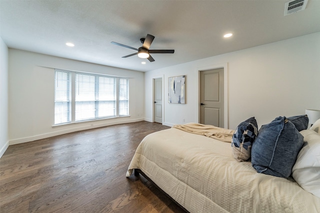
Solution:
{"label": "whole wide window with white blinds, all three sections", "polygon": [[121,77],[56,69],[54,124],[128,116],[128,83]]}

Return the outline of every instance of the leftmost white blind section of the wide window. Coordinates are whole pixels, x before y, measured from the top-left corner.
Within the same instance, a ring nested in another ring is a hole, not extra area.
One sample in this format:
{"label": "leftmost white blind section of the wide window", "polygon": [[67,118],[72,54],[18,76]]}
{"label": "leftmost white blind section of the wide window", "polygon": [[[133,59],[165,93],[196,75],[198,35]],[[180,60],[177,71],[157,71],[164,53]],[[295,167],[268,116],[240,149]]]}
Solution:
{"label": "leftmost white blind section of the wide window", "polygon": [[54,72],[54,124],[71,121],[71,77],[69,72]]}

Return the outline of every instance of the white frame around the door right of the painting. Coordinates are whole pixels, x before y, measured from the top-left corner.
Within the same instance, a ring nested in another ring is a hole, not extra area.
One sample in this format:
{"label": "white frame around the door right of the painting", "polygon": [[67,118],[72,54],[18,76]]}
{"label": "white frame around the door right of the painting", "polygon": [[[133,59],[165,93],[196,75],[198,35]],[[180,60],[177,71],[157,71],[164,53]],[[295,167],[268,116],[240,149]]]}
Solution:
{"label": "white frame around the door right of the painting", "polygon": [[198,71],[198,101],[196,104],[196,110],[197,110],[197,117],[196,119],[198,122],[200,122],[200,71],[210,70],[210,69],[218,69],[223,68],[223,96],[224,96],[224,103],[223,103],[223,119],[224,119],[224,126],[223,128],[228,128],[228,63],[219,63],[219,64],[212,64],[202,67],[197,67]]}

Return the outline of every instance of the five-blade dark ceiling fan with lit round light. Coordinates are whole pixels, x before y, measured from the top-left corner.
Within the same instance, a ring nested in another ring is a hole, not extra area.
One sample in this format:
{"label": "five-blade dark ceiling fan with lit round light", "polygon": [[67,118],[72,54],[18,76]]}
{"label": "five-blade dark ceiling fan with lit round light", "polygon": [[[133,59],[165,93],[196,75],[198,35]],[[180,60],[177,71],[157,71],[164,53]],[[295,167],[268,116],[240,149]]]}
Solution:
{"label": "five-blade dark ceiling fan with lit round light", "polygon": [[122,57],[130,57],[132,55],[138,55],[140,58],[147,58],[150,62],[154,61],[153,57],[150,55],[150,53],[174,53],[174,49],[149,49],[150,45],[154,39],[153,35],[147,34],[145,38],[140,38],[140,41],[142,43],[142,46],[139,48],[134,48],[131,46],[127,46],[121,43],[117,43],[114,41],[111,41],[112,44],[123,46],[126,48],[134,49],[137,52],[129,55],[125,55]]}

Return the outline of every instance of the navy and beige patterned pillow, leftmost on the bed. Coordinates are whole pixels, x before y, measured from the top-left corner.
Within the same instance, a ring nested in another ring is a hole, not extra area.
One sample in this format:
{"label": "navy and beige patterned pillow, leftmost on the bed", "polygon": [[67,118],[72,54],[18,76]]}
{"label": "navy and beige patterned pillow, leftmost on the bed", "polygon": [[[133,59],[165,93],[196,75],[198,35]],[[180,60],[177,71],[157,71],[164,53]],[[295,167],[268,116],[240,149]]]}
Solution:
{"label": "navy and beige patterned pillow, leftmost on the bed", "polygon": [[258,125],[254,117],[241,122],[235,129],[231,140],[232,155],[238,161],[247,160],[251,156],[251,145],[258,133]]}

